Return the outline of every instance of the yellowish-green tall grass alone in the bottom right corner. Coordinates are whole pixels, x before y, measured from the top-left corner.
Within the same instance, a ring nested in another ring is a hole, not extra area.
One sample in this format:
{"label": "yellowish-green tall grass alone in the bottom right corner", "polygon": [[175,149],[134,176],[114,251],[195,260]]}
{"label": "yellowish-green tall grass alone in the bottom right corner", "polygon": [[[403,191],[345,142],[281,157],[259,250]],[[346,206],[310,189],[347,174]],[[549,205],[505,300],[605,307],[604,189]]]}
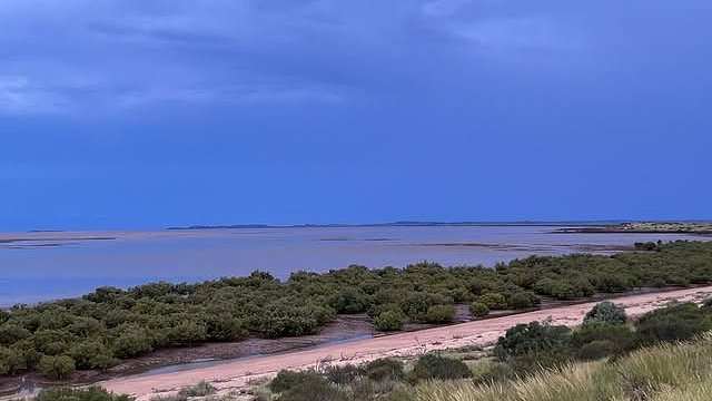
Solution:
{"label": "yellowish-green tall grass alone in the bottom right corner", "polygon": [[572,364],[527,379],[476,385],[429,382],[418,401],[698,401],[712,400],[712,339],[644,349],[616,362]]}

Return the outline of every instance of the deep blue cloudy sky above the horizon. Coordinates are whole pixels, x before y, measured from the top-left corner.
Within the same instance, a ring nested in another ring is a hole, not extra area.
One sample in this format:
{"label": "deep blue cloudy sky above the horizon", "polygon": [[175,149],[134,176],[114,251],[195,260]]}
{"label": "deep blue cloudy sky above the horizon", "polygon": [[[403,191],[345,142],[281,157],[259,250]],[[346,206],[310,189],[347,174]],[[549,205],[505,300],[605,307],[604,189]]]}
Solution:
{"label": "deep blue cloudy sky above the horizon", "polygon": [[0,231],[712,218],[709,0],[0,0]]}

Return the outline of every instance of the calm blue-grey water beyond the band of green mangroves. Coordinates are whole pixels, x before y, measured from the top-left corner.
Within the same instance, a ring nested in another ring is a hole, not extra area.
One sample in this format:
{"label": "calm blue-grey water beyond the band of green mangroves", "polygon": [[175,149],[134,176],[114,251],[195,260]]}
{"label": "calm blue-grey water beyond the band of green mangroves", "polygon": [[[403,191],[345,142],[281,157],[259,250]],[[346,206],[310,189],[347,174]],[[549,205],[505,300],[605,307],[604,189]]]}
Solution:
{"label": "calm blue-grey water beyond the band of green mangroves", "polygon": [[[551,234],[543,226],[437,226],[209,229],[0,235],[0,305],[75,296],[100,285],[131,286],[349,264],[484,264],[532,254],[590,252],[641,241],[699,239],[669,234]],[[10,238],[32,241],[7,242]],[[90,236],[115,239],[88,241]],[[80,238],[81,237],[81,238]],[[2,239],[6,239],[3,242]],[[593,246],[593,248],[592,248]]]}

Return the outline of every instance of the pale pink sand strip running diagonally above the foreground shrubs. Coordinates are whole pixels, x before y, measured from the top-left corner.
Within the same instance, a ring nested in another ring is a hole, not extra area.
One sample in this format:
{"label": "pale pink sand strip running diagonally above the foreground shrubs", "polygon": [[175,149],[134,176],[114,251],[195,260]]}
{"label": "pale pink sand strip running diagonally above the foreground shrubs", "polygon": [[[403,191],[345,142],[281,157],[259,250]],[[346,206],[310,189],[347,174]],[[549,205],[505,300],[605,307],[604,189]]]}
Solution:
{"label": "pale pink sand strip running diagonally above the foreground shrubs", "polygon": [[[670,301],[701,302],[712,296],[712,286],[631,295],[610,301],[623,305],[630,316],[636,316],[663,306]],[[428,351],[486,345],[520,323],[551,320],[552,324],[575,326],[596,302],[563,306],[517,315],[488,319],[443,327],[402,333],[376,339],[354,341],[308,351],[266,355],[235,361],[217,366],[184,372],[115,379],[100,383],[117,393],[129,393],[138,400],[147,400],[157,392],[171,392],[201,380],[212,382],[218,389],[243,389],[255,379],[268,378],[281,369],[300,370],[322,364],[362,363],[384,356],[407,358]]]}

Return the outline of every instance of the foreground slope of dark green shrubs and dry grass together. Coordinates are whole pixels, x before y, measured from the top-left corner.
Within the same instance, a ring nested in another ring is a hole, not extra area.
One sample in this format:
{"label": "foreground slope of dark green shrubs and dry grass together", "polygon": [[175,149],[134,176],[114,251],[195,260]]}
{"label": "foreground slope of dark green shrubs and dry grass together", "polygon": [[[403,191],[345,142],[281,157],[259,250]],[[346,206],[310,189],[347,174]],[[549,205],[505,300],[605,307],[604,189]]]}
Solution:
{"label": "foreground slope of dark green shrubs and dry grass together", "polygon": [[629,325],[621,307],[604,302],[575,330],[540,322],[514,326],[492,352],[281,371],[256,400],[710,400],[712,340],[701,338],[710,329],[712,303],[671,304]]}

